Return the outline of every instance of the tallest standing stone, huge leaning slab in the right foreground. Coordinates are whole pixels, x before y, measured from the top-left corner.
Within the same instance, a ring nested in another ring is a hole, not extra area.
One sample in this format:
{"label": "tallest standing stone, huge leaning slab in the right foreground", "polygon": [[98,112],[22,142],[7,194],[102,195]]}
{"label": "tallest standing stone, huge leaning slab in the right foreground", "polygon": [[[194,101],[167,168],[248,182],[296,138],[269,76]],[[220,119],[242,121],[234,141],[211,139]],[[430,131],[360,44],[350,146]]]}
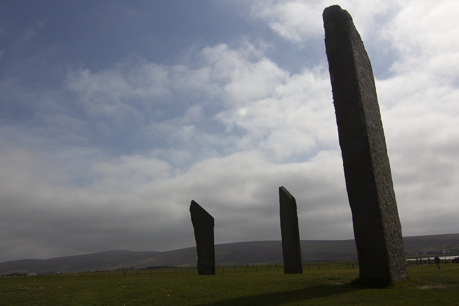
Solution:
{"label": "tallest standing stone, huge leaning slab in the right foreground", "polygon": [[408,272],[371,63],[347,11],[330,6],[323,23],[360,277],[400,281]]}

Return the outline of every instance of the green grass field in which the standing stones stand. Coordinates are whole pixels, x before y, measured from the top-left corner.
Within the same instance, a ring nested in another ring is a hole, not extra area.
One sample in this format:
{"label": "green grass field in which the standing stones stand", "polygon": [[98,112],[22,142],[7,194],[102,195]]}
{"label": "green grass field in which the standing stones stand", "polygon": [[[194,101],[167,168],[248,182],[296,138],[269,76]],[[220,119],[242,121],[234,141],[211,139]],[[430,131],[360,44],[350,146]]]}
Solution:
{"label": "green grass field in which the standing stones stand", "polygon": [[[459,265],[410,265],[410,277],[384,289],[351,283],[359,270],[337,265],[110,271],[3,277],[0,305],[458,305]],[[235,273],[236,272],[236,273]],[[126,273],[126,274],[124,274]],[[164,274],[163,274],[164,273]]]}

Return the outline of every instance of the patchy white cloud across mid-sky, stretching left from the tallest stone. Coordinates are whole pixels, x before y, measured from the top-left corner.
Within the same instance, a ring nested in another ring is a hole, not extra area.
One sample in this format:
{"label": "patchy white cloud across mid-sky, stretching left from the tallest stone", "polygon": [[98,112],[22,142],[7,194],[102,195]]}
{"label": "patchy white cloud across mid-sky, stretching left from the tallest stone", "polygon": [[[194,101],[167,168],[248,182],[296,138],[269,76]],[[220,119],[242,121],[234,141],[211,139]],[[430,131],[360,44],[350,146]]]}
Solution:
{"label": "patchy white cloud across mid-sky, stretching left from the tallest stone", "polygon": [[206,47],[195,59],[194,68],[140,63],[70,71],[66,86],[100,118],[100,133],[113,134],[130,120],[149,122],[136,135],[152,140],[149,150],[159,149],[159,139],[174,150],[193,147],[197,160],[261,149],[282,162],[312,157],[319,144],[336,148],[324,67],[290,75],[246,41],[237,49]]}

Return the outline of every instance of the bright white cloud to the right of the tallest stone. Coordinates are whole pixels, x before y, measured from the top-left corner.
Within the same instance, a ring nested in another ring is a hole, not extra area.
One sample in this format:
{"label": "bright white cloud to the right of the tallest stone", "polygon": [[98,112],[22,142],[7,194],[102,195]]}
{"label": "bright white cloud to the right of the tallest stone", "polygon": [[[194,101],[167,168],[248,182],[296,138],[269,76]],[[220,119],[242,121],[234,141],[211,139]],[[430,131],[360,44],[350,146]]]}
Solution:
{"label": "bright white cloud to the right of the tallest stone", "polygon": [[[404,232],[453,233],[459,194],[459,45],[453,2],[409,2],[383,33],[399,54],[377,80]],[[436,230],[442,224],[443,230]]]}

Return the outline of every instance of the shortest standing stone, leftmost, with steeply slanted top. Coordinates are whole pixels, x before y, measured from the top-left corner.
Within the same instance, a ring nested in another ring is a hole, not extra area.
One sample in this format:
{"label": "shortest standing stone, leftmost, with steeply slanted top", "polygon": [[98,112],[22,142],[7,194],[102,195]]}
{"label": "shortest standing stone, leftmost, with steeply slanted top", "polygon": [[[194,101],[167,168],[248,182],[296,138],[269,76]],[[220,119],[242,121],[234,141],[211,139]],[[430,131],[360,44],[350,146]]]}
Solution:
{"label": "shortest standing stone, leftmost, with steeply slanted top", "polygon": [[214,218],[195,201],[190,205],[199,275],[215,275]]}

